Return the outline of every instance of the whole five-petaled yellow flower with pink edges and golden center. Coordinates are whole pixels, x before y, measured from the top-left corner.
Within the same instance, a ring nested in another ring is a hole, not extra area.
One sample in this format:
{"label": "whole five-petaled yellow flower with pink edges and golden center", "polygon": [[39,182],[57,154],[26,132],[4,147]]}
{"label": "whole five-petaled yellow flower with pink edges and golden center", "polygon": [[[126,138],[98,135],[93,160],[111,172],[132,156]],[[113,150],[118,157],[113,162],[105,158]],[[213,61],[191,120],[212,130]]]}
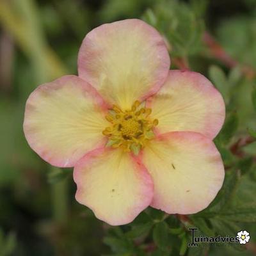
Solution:
{"label": "whole five-petaled yellow flower with pink edges and golden center", "polygon": [[45,161],[74,166],[76,200],[111,225],[148,205],[205,209],[223,184],[212,143],[225,104],[199,73],[169,70],[161,35],[142,20],[104,24],[84,38],[79,76],[31,93],[24,133]]}

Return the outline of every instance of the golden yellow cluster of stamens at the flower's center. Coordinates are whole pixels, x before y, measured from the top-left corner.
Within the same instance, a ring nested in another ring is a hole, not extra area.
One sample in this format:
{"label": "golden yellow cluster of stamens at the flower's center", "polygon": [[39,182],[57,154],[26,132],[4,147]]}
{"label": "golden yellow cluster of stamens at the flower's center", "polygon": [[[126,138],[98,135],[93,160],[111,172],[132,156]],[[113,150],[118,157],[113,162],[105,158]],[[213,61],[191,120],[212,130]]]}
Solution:
{"label": "golden yellow cluster of stamens at the flower's center", "polygon": [[150,108],[143,108],[136,100],[129,110],[122,111],[113,105],[106,119],[111,126],[102,132],[108,136],[107,146],[123,147],[126,151],[138,154],[145,142],[154,138],[153,128],[158,124],[157,119],[150,119]]}

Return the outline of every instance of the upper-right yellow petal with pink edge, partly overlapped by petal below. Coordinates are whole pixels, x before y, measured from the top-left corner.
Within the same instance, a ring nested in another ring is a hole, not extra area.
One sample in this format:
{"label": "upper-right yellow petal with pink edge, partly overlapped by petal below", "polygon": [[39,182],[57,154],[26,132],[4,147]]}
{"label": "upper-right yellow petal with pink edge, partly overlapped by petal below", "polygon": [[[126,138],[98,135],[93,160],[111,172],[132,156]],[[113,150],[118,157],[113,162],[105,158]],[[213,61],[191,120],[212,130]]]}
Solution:
{"label": "upper-right yellow petal with pink edge, partly overlapped by petal below", "polygon": [[199,73],[170,70],[161,90],[149,100],[159,133],[200,132],[214,138],[225,119],[225,104],[211,82]]}

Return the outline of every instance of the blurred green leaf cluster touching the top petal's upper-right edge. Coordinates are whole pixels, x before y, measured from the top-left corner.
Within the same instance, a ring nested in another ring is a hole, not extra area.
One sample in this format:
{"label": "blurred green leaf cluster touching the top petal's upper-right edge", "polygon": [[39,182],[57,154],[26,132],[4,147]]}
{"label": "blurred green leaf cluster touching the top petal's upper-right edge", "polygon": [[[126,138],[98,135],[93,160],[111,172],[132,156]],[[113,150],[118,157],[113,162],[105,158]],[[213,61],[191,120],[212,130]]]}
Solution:
{"label": "blurred green leaf cluster touching the top petal's upper-right edge", "polygon": [[155,26],[170,42],[172,56],[186,58],[202,49],[204,22],[198,19],[189,4],[183,1],[156,1],[154,8],[144,13],[143,19]]}

